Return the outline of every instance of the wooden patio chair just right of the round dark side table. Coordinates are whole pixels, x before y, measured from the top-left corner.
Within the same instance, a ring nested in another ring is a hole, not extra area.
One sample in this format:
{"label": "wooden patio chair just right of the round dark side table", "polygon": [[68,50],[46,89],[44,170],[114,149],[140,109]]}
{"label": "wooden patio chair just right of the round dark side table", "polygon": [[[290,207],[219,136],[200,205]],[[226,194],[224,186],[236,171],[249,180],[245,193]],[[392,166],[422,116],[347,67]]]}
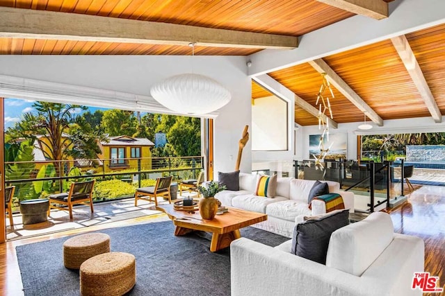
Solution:
{"label": "wooden patio chair just right of the round dark side table", "polygon": [[49,195],[49,209],[48,216],[51,209],[66,210],[66,207],[56,206],[55,204],[64,204],[70,211],[70,219],[72,219],[72,206],[74,204],[90,204],[91,213],[94,213],[92,207],[92,191],[95,188],[96,180],[85,182],[73,182],[70,186],[70,191],[67,193],[58,193]]}

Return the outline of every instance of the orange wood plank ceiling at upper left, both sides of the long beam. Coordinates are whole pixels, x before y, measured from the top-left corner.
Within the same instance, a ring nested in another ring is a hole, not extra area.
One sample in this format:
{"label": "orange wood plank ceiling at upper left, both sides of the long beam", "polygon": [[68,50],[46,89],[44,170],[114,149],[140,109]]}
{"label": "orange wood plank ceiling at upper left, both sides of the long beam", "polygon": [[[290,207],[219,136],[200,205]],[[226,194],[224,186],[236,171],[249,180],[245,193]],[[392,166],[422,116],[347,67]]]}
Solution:
{"label": "orange wood plank ceiling at upper left, both sides of the long beam", "polygon": [[[354,15],[316,0],[0,0],[0,6],[290,36]],[[256,51],[259,49],[195,48],[196,55],[250,55]],[[0,54],[190,55],[191,50],[188,46],[0,38]]]}

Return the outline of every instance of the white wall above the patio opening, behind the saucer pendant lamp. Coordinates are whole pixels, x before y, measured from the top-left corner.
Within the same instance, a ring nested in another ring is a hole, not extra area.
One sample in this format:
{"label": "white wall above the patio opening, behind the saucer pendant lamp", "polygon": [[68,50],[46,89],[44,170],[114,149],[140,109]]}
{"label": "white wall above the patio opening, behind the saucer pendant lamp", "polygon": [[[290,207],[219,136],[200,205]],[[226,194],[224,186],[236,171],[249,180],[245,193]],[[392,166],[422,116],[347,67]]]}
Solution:
{"label": "white wall above the patio opening, behind the saucer pendant lamp", "polygon": [[[154,55],[3,55],[0,74],[108,89],[149,96],[154,82],[191,71],[227,87],[232,101],[215,120],[214,170],[233,171],[238,140],[251,122],[251,86],[245,57]],[[245,147],[241,171],[250,171],[251,143]],[[233,159],[232,159],[232,158]]]}

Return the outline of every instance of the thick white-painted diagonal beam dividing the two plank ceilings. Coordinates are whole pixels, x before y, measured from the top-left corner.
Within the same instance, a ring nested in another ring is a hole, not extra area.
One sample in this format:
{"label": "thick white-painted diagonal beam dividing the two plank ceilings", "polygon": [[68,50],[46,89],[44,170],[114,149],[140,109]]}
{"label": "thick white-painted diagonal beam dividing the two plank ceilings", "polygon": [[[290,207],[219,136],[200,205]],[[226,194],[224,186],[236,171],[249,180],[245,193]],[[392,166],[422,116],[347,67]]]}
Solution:
{"label": "thick white-painted diagonal beam dividing the two plank ceilings", "polygon": [[445,22],[444,0],[403,0],[389,3],[391,17],[374,21],[369,17],[349,17],[319,28],[301,38],[298,50],[258,51],[249,55],[249,76],[289,68],[297,64],[334,55],[391,37],[419,31]]}

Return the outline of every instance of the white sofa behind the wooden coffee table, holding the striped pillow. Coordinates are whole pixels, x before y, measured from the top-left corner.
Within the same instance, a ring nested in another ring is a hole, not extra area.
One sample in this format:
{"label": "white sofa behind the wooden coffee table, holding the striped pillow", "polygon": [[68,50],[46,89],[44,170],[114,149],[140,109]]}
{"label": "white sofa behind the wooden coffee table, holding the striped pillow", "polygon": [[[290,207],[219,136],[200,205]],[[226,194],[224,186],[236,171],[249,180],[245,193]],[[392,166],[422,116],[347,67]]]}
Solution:
{"label": "white sofa behind the wooden coffee table, holding the striped pillow", "polygon": [[[309,209],[307,198],[316,181],[301,180],[293,177],[278,177],[275,198],[254,195],[257,175],[239,174],[239,191],[225,190],[216,194],[216,198],[227,207],[236,207],[247,211],[257,211],[268,215],[266,221],[252,225],[291,238],[296,221],[302,216],[325,213],[325,204],[321,200],[312,201]],[[338,182],[327,181],[330,193],[339,193],[346,209],[354,212],[354,193],[340,190]]]}

